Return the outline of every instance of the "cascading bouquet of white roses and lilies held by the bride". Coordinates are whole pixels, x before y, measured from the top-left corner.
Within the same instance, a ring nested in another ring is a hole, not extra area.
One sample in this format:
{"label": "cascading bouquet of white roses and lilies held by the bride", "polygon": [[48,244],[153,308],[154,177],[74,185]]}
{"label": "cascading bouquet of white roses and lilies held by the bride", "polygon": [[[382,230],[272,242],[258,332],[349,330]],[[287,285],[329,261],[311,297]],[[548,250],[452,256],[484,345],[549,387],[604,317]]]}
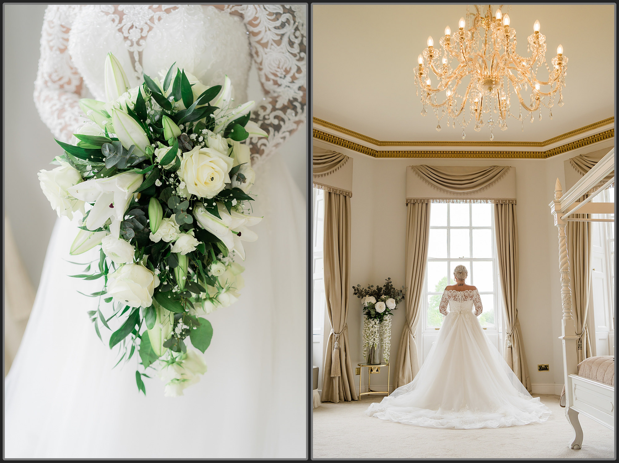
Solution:
{"label": "cascading bouquet of white roses and lilies held by the bride", "polygon": [[[90,122],[75,144],[56,140],[60,167],[38,174],[58,216],[82,213],[71,254],[101,246],[97,270],[72,275],[103,278],[103,289],[89,294],[99,298],[89,312],[97,335],[99,323],[113,331],[118,363],[137,350],[144,370],[155,368],[167,383],[167,396],[182,395],[206,372],[186,346],[189,338],[202,353],[209,347],[212,326],[199,315],[235,302],[245,284],[234,258],[245,260],[242,242],[258,239],[248,227],[262,218],[249,214],[255,174],[241,142],[267,135],[249,121],[253,101],[233,103],[227,76],[223,87],[206,87],[175,64],[128,88],[108,54],[108,101],[80,100]],[[145,394],[142,376],[150,376],[136,371]]]}

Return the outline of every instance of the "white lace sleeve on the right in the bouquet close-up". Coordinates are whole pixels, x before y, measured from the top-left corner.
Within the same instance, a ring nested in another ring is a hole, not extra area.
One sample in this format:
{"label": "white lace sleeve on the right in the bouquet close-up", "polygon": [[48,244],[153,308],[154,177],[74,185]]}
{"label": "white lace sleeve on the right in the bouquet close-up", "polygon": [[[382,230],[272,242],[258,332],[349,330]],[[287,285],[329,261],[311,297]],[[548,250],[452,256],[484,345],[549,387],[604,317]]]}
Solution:
{"label": "white lace sleeve on the right in the bouquet close-up", "polygon": [[223,11],[243,17],[265,99],[252,120],[269,134],[254,138],[252,161],[266,157],[305,122],[305,5],[235,5]]}

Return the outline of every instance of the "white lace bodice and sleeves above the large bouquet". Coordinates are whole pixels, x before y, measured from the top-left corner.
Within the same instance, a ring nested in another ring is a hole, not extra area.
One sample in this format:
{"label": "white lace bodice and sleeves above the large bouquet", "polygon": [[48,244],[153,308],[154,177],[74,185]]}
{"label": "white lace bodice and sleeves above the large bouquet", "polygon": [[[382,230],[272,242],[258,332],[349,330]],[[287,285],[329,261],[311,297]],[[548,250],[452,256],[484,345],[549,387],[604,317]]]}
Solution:
{"label": "white lace bodice and sleeves above the large bouquet", "polygon": [[35,104],[59,140],[84,122],[80,98],[105,101],[103,64],[115,54],[132,86],[176,61],[205,85],[225,74],[245,101],[256,62],[265,93],[251,119],[268,138],[251,140],[263,160],[305,120],[304,5],[50,5],[41,32]]}

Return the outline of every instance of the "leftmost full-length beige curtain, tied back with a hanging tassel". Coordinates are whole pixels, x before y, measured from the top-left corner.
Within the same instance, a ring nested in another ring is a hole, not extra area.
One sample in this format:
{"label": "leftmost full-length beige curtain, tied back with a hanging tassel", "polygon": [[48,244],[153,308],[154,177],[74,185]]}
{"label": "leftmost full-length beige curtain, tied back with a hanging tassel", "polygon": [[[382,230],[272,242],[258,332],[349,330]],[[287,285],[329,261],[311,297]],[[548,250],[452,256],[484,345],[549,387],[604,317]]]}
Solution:
{"label": "leftmost full-length beige curtain, tied back with a hanging tassel", "polygon": [[331,333],[322,370],[322,402],[357,400],[348,346],[350,197],[324,192],[324,292]]}

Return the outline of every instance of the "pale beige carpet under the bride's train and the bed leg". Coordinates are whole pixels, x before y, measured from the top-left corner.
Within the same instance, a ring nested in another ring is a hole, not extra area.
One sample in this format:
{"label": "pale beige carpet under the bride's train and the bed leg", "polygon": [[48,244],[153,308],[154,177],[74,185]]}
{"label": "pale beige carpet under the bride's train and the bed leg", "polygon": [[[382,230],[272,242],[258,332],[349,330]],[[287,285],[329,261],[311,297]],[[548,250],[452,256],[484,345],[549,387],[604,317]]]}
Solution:
{"label": "pale beige carpet under the bride's train and the bed leg", "polygon": [[365,415],[371,402],[322,402],[313,414],[313,458],[602,458],[615,456],[615,433],[581,415],[582,449],[568,448],[571,427],[558,396],[539,396],[552,410],[545,423],[511,428],[441,430]]}

